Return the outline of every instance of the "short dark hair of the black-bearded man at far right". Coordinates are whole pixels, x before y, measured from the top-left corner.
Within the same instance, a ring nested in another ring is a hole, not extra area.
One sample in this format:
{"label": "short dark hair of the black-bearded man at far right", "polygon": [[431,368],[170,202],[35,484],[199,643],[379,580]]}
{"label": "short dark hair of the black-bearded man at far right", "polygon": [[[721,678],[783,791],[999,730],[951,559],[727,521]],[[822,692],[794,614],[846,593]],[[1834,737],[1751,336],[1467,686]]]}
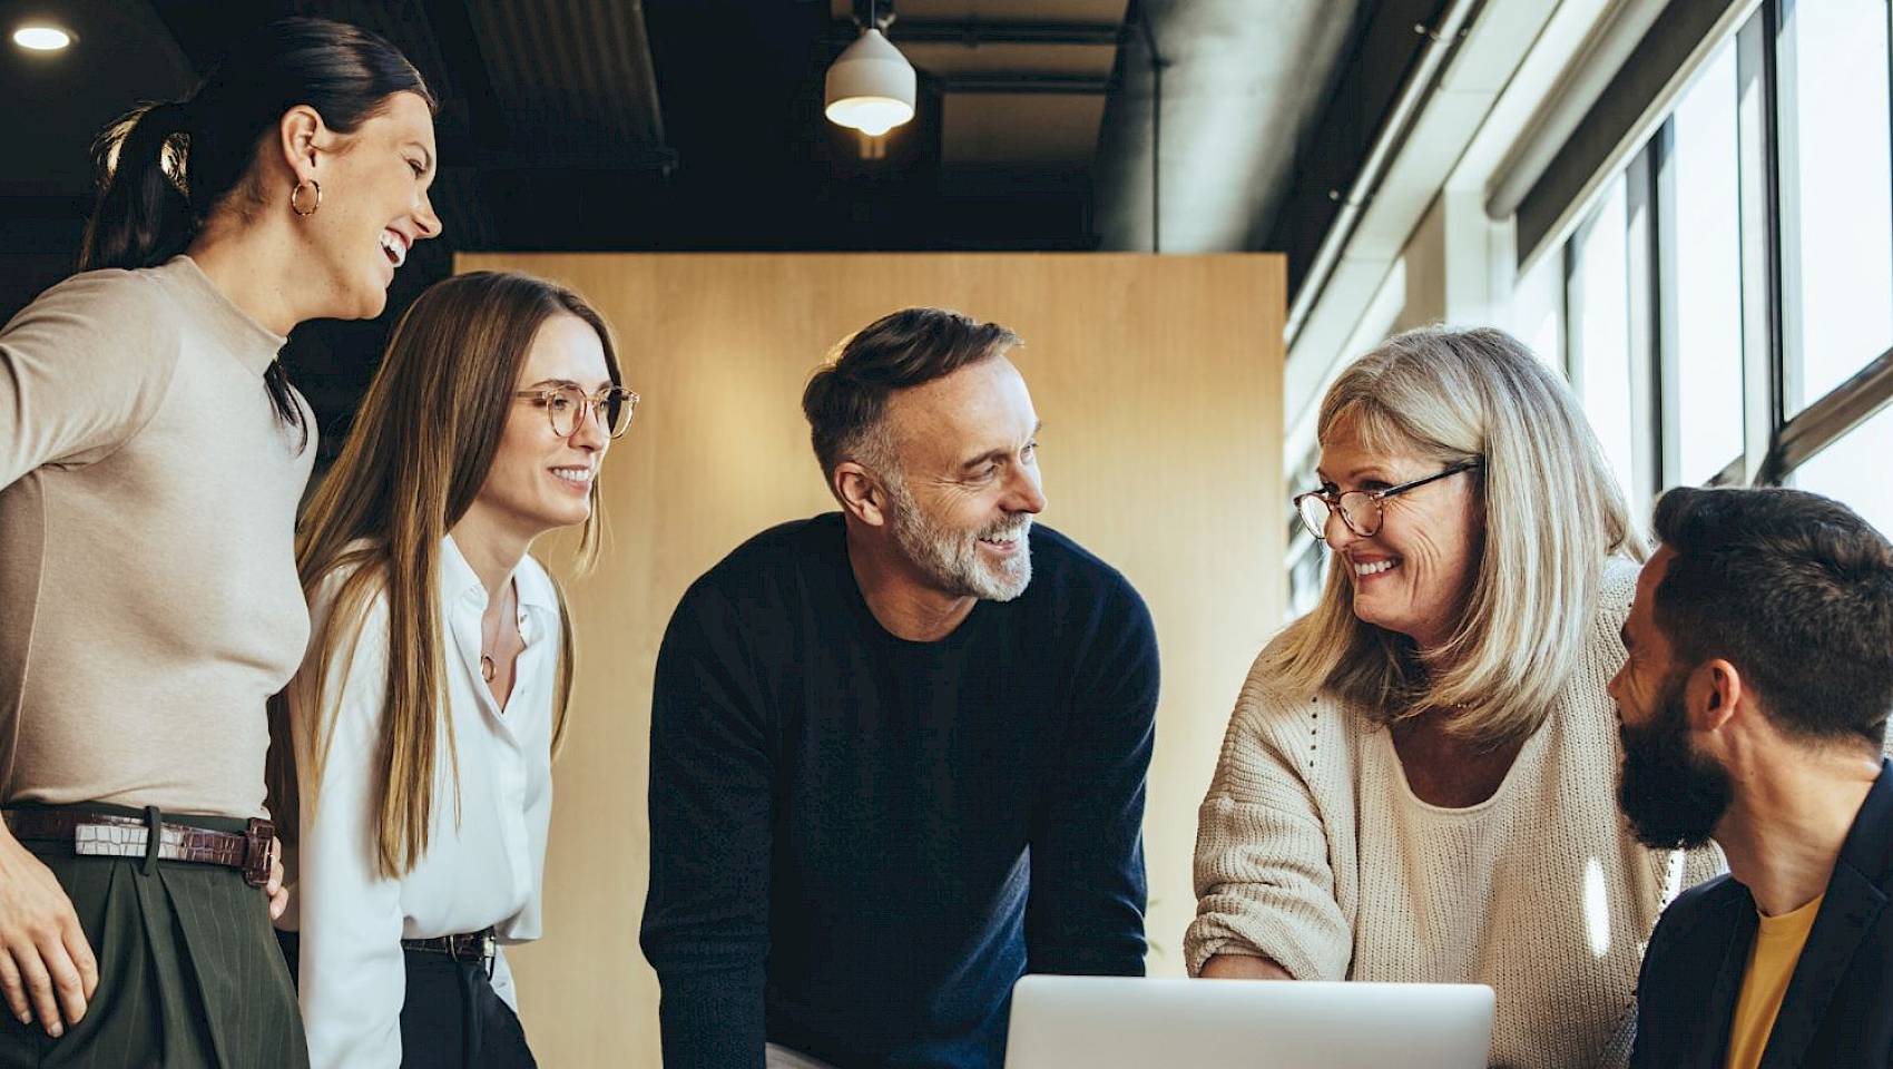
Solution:
{"label": "short dark hair of the black-bearded man at far right", "polygon": [[1893,706],[1893,545],[1840,501],[1690,486],[1656,501],[1653,600],[1679,664],[1725,658],[1802,740],[1880,749]]}

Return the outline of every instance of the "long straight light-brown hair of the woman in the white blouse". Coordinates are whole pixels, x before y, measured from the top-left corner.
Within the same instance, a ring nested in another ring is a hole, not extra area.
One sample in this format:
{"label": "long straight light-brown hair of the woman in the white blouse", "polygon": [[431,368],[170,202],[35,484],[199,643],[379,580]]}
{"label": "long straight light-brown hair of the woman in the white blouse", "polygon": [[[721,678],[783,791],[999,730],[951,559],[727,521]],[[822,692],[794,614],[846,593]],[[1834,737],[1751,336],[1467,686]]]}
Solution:
{"label": "long straight light-brown hair of the woman in the white blouse", "polygon": [[[369,605],[384,596],[388,675],[375,755],[380,787],[375,846],[384,876],[411,870],[428,850],[441,736],[454,768],[439,638],[441,541],[487,481],[532,339],[560,314],[577,316],[598,333],[611,382],[621,384],[604,318],[562,286],[477,271],[437,282],[415,299],[394,327],[341,456],[297,528],[295,566],[303,594],[314,594],[331,575],[343,579],[327,617],[310,636],[312,657],[271,702],[271,812],[292,831],[301,810],[314,812],[335,738],[335,696],[346,685],[346,679],[329,679],[327,670],[337,653],[352,655]],[[581,570],[598,554],[598,481],[593,481],[591,517],[579,539]],[[575,662],[562,590],[558,621],[555,753],[564,742]],[[292,717],[301,723],[292,727]],[[301,785],[293,728],[310,744],[309,781]],[[458,812],[458,768],[452,781]]]}

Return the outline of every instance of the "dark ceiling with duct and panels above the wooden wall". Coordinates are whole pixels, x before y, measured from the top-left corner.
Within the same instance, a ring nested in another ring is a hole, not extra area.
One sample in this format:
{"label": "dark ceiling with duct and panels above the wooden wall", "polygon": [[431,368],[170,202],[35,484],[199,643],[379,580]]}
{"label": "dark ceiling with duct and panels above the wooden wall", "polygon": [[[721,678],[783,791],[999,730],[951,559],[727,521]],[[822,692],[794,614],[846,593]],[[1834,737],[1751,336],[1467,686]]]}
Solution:
{"label": "dark ceiling with duct and panels above the wooden wall", "polygon": [[[1336,55],[1376,4],[1397,0],[897,0],[890,40],[920,70],[920,110],[863,151],[822,119],[852,0],[0,0],[6,30],[53,11],[80,36],[53,57],[0,44],[0,312],[70,271],[93,134],[187,93],[284,13],[386,36],[441,96],[447,237],[416,248],[388,316],[314,324],[286,354],[339,431],[392,316],[456,248],[1149,248],[1138,19],[1170,62],[1164,252],[1266,248]],[[1342,125],[1369,129],[1355,110]]]}

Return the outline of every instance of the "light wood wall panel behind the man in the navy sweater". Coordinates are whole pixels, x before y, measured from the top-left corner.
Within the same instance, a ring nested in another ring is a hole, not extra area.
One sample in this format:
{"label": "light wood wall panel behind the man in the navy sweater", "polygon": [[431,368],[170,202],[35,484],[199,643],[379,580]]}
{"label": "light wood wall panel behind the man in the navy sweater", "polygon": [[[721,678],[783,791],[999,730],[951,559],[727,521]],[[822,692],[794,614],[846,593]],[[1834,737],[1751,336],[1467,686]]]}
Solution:
{"label": "light wood wall panel behind the man in the navy sweater", "polygon": [[[1278,255],[460,255],[564,282],[611,322],[638,422],[604,465],[610,541],[568,579],[581,668],[555,768],[545,938],[509,952],[541,1065],[659,1065],[638,952],[651,668],[683,588],[833,507],[801,388],[893,308],[1001,322],[1045,420],[1043,522],[1130,577],[1162,647],[1145,848],[1149,967],[1179,974],[1191,850],[1229,711],[1282,619]],[[564,545],[541,547],[558,568]]]}

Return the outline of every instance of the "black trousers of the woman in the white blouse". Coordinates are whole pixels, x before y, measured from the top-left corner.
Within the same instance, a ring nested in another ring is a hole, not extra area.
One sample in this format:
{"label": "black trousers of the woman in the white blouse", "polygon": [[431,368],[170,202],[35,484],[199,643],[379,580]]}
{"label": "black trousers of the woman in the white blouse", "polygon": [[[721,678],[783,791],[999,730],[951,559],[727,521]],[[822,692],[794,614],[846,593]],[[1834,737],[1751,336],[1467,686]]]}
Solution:
{"label": "black trousers of the woman in the white blouse", "polygon": [[[295,976],[299,937],[278,931]],[[428,950],[403,950],[401,1069],[536,1069],[526,1029],[487,978],[487,965]]]}

